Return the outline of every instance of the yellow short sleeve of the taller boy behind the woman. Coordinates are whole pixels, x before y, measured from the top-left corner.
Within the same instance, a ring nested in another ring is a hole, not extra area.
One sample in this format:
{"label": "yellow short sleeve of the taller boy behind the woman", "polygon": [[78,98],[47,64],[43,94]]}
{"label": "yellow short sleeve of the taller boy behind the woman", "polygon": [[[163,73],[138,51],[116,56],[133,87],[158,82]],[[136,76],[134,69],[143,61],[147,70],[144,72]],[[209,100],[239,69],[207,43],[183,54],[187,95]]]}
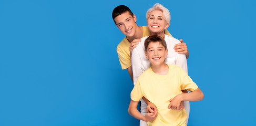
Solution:
{"label": "yellow short sleeve of the taller boy behind the woman", "polygon": [[124,49],[117,47],[117,54],[120,61],[122,69],[127,69],[131,66],[130,54],[128,54]]}

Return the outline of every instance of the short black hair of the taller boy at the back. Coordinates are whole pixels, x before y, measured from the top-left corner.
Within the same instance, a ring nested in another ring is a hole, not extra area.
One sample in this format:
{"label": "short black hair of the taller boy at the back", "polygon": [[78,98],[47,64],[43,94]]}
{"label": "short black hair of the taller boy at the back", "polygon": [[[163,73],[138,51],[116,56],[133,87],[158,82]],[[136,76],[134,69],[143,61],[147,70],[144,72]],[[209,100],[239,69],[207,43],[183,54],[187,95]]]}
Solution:
{"label": "short black hair of the taller boy at the back", "polygon": [[[123,13],[126,13],[126,12],[129,12],[129,14],[130,14],[132,17],[134,17],[134,13],[131,12],[131,10],[130,10],[129,7],[127,7],[127,6],[125,6],[125,5],[119,5],[119,6],[117,6],[117,7],[113,10],[113,12],[112,12],[112,18],[113,18],[113,20],[114,20],[117,16],[119,16],[119,15],[121,15],[121,14],[123,14]],[[114,22],[115,22],[115,20],[114,20]],[[115,22],[115,24],[116,24],[116,22]]]}

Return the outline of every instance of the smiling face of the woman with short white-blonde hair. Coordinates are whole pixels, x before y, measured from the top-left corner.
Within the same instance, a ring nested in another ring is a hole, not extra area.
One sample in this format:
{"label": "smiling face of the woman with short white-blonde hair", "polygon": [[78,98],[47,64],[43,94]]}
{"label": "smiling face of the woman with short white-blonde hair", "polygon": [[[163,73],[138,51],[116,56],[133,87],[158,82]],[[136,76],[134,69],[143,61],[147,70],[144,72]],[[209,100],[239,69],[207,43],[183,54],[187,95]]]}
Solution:
{"label": "smiling face of the woman with short white-blonde hair", "polygon": [[151,35],[164,34],[164,30],[168,28],[169,24],[163,18],[160,10],[153,10],[147,19],[148,29]]}

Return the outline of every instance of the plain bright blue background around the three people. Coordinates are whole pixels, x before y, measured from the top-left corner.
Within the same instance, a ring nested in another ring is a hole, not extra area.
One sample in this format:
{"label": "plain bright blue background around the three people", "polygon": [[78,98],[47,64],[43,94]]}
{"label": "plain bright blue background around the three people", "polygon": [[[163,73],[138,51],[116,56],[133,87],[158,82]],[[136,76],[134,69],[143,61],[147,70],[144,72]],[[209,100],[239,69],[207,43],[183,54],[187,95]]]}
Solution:
{"label": "plain bright blue background around the three people", "polygon": [[137,24],[155,3],[188,45],[189,76],[204,93],[189,125],[256,125],[255,1],[0,1],[0,125],[138,125],[116,47],[112,10]]}

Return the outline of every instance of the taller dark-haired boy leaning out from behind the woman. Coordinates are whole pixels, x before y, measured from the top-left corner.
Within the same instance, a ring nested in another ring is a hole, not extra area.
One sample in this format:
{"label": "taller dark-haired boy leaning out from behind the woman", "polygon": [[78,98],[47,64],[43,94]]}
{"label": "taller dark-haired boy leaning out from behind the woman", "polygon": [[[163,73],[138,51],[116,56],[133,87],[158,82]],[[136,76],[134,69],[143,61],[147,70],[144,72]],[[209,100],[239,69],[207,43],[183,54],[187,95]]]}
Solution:
{"label": "taller dark-haired boy leaning out from behind the woman", "polygon": [[[150,32],[147,26],[138,26],[136,24],[137,18],[135,14],[131,12],[129,7],[125,5],[117,6],[112,12],[112,18],[116,24],[116,26],[121,30],[123,34],[126,35],[124,39],[117,46],[117,54],[121,64],[122,69],[127,69],[131,80],[132,77],[132,69],[131,69],[131,53],[132,49],[136,47],[140,42],[140,38],[149,36]],[[171,36],[168,30],[165,30],[165,34]],[[189,51],[186,46],[186,43],[183,43],[182,39],[180,39],[179,44],[176,44],[173,49],[178,51],[179,54],[185,54],[186,58],[189,57]]]}

